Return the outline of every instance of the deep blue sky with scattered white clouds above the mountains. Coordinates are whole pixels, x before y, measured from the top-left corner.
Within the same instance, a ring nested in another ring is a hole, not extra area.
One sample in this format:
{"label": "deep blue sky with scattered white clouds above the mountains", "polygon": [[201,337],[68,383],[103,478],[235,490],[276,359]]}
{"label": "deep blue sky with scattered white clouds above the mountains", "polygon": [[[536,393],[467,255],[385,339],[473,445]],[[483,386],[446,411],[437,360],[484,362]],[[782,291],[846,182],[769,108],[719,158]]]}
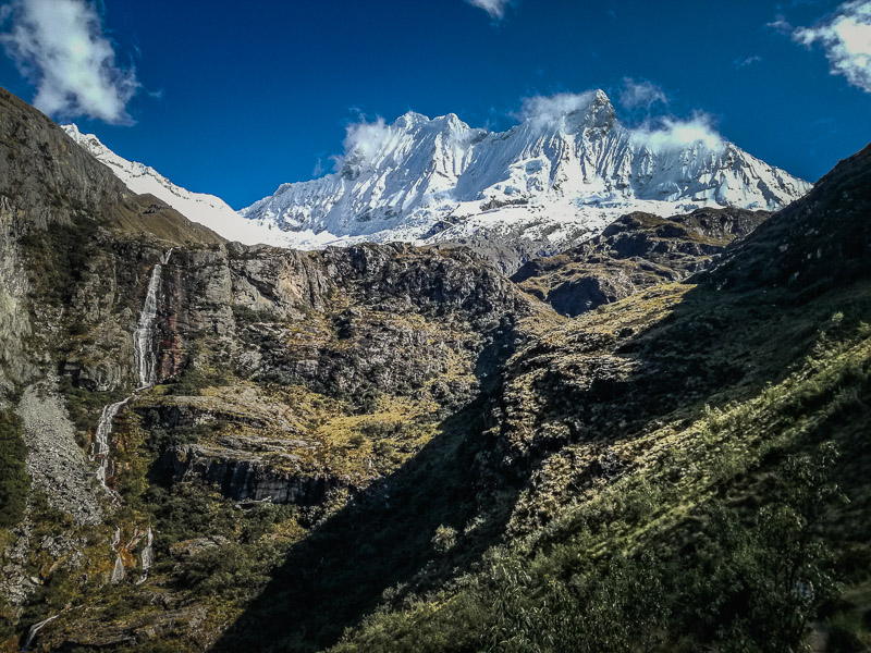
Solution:
{"label": "deep blue sky with scattered white clouds above the mountains", "polygon": [[[704,112],[815,181],[871,138],[871,59],[845,54],[845,15],[871,23],[871,0],[11,0],[0,84],[234,208],[329,171],[361,115],[503,130],[524,98],[603,88],[631,124],[648,109],[619,104],[626,78],[662,90],[653,114]],[[96,54],[42,51],[65,20]]]}

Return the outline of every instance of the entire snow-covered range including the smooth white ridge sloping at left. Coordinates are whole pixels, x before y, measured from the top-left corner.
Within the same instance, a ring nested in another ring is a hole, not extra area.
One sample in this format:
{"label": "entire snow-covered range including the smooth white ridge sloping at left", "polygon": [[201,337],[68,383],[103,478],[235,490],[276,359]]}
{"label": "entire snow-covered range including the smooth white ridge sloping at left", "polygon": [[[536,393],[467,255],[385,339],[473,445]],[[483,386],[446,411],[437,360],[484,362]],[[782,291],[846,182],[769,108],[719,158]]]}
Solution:
{"label": "entire snow-covered range including the smooth white ridge sloping at left", "polygon": [[707,134],[627,128],[601,90],[507,132],[469,127],[453,113],[358,125],[334,173],[283,184],[238,212],[65,128],[133,190],[230,239],[300,249],[459,242],[503,269],[576,245],[630,211],[777,210],[811,187]]}

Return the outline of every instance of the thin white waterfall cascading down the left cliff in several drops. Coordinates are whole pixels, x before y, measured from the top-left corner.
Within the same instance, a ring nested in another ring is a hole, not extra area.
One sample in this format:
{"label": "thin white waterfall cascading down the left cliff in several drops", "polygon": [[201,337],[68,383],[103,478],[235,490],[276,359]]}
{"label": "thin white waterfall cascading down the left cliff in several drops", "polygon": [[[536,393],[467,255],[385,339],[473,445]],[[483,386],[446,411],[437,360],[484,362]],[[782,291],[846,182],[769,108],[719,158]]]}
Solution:
{"label": "thin white waterfall cascading down the left cliff in several drops", "polygon": [[[97,461],[97,480],[109,494],[114,505],[118,505],[121,502],[121,497],[119,496],[118,492],[115,492],[107,483],[108,479],[111,479],[115,476],[115,466],[111,457],[112,426],[121,408],[136,398],[140,392],[152,387],[155,383],[157,383],[155,322],[157,320],[158,294],[160,292],[163,267],[169,264],[171,256],[172,249],[169,249],[161,257],[160,262],[156,263],[151,270],[151,276],[148,280],[148,291],[145,295],[145,304],[143,305],[143,310],[139,313],[139,320],[136,322],[136,329],[133,331],[133,356],[139,378],[139,385],[133,391],[131,396],[122,399],[121,402],[108,404],[103,407],[102,412],[100,414],[100,419],[97,422],[97,430],[94,434],[94,441],[90,444],[89,458],[91,461]],[[136,526],[134,527],[131,541],[126,544],[126,546],[124,546],[122,545],[121,529],[115,527],[114,535],[112,538],[112,542],[110,543],[112,552],[115,554],[115,564],[111,576],[112,583],[122,581],[126,576],[124,562],[121,558],[121,551],[132,551],[143,538],[145,538],[145,547],[140,554],[143,575],[136,581],[136,584],[145,582],[148,578],[148,571],[151,568],[151,563],[154,560],[154,532],[151,531],[150,526],[145,531]],[[36,639],[39,630],[50,621],[57,619],[63,614],[63,612],[52,615],[49,618],[30,626],[30,628],[27,630],[27,634],[24,639],[24,645],[21,650],[29,651],[30,645]]]}

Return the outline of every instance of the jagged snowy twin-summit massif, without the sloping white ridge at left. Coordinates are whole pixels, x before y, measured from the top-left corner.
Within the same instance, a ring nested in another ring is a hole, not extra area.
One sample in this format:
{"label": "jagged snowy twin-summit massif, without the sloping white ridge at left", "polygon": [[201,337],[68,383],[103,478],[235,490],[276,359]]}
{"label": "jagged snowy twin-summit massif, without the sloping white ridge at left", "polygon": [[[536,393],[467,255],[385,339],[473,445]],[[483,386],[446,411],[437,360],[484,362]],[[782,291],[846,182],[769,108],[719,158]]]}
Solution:
{"label": "jagged snowy twin-summit massif, without the sloping white ridge at left", "polygon": [[517,118],[502,133],[470,128],[453,113],[369,123],[354,133],[367,156],[346,149],[340,175],[282,186],[241,213],[330,241],[415,241],[476,215],[489,224],[494,210],[530,224],[598,225],[591,212],[777,209],[810,187],[723,147],[698,119],[629,130],[603,90],[529,98]]}

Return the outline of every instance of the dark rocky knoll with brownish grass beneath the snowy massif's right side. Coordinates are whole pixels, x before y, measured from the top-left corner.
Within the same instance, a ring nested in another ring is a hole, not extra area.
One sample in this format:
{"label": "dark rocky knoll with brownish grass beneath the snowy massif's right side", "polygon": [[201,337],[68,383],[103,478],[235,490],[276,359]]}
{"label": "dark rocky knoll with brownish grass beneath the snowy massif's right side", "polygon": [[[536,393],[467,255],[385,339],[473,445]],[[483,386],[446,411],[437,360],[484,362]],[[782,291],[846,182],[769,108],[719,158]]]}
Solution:
{"label": "dark rocky knoll with brownish grass beneath the snowy massif's right side", "polygon": [[579,247],[529,261],[512,280],[574,317],[658,283],[687,279],[769,215],[743,209],[699,209],[672,218],[629,213]]}

